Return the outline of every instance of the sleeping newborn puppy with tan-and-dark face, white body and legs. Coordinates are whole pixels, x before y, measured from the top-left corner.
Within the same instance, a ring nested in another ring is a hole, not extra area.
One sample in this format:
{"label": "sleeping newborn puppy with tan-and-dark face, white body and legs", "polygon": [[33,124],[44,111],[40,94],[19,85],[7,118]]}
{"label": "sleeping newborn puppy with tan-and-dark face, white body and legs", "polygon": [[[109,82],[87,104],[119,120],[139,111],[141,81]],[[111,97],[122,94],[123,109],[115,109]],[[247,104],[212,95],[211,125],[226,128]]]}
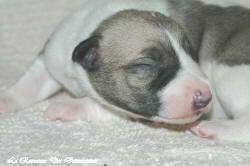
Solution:
{"label": "sleeping newborn puppy with tan-and-dark face, white body and legs", "polygon": [[123,114],[185,124],[209,111],[211,91],[183,29],[165,0],[102,0],[68,17],[24,76],[0,100],[20,110],[60,89],[51,120],[107,120]]}

